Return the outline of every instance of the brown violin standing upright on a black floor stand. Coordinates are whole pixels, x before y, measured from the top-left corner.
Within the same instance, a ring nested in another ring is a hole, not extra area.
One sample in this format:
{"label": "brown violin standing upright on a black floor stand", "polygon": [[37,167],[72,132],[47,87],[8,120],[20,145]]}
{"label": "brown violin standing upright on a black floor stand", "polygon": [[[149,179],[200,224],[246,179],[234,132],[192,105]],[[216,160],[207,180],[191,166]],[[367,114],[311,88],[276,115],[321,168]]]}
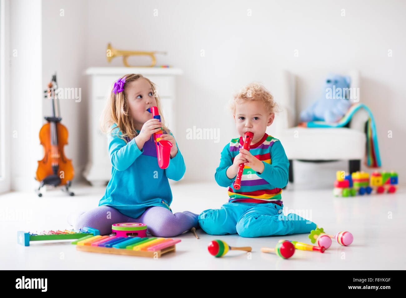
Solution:
{"label": "brown violin standing upright on a black floor stand", "polygon": [[[52,76],[50,83],[48,84],[48,90],[45,90],[45,98],[51,99],[51,112],[52,116],[44,117],[47,120],[40,131],[39,141],[44,148],[44,157],[41,161],[38,161],[38,168],[35,179],[41,182],[37,190],[39,197],[41,187],[44,185],[53,186],[65,186],[63,191],[74,195],[69,191],[71,182],[75,172],[73,170],[72,160],[67,159],[63,152],[63,147],[68,144],[68,130],[60,123],[59,102],[56,101],[58,96],[54,90],[56,84],[56,74]],[[55,106],[58,106],[58,115],[55,112]]]}

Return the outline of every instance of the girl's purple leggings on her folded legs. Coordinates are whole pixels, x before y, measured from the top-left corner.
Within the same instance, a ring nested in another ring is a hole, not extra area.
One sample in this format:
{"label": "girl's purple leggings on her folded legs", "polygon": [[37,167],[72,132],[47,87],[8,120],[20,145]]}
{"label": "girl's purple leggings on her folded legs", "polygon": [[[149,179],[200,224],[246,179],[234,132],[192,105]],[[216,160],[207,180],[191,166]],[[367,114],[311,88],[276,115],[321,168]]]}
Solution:
{"label": "girl's purple leggings on her folded legs", "polygon": [[167,208],[153,206],[145,210],[140,217],[134,219],[113,207],[98,206],[81,214],[72,224],[75,229],[93,227],[100,231],[100,235],[108,235],[111,234],[113,223],[145,223],[148,234],[158,237],[173,237],[190,230],[192,227],[198,228],[198,216],[199,214],[189,211],[173,214]]}

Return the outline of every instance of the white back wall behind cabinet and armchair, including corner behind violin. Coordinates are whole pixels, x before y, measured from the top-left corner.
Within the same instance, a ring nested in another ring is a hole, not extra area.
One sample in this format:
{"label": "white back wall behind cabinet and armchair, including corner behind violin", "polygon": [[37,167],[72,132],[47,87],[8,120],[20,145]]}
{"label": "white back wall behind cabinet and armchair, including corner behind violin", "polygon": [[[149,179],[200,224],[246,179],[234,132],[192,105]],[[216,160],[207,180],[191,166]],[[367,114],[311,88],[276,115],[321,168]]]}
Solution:
{"label": "white back wall behind cabinet and armchair, including corner behind violin", "polygon": [[[233,91],[253,80],[272,91],[275,75],[287,69],[298,76],[302,109],[319,94],[328,72],[359,69],[362,102],[376,119],[382,169],[396,170],[404,182],[405,6],[402,1],[44,0],[43,86],[57,69],[61,85],[83,88],[81,103],[61,103],[70,133],[65,153],[79,175],[87,159],[84,69],[122,66],[119,58],[108,64],[108,42],[118,49],[167,51],[157,56],[158,64],[184,71],[177,84],[175,137],[186,161],[185,180],[213,181],[220,151],[236,137],[224,109]],[[59,9],[65,9],[64,17]],[[51,36],[48,48],[45,39]],[[48,113],[45,102],[43,111]],[[193,126],[219,128],[220,142],[187,140],[186,129]],[[389,130],[393,138],[387,137]]]}

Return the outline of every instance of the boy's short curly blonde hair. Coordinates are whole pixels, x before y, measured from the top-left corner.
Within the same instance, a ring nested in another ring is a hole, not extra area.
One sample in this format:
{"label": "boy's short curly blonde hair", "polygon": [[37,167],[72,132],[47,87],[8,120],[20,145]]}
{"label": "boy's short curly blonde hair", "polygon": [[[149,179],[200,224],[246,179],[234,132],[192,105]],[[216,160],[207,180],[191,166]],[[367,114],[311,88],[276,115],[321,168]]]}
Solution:
{"label": "boy's short curly blonde hair", "polygon": [[229,108],[235,114],[235,105],[238,101],[262,101],[269,114],[278,112],[278,104],[274,101],[274,96],[261,83],[252,82],[242,87],[233,95]]}

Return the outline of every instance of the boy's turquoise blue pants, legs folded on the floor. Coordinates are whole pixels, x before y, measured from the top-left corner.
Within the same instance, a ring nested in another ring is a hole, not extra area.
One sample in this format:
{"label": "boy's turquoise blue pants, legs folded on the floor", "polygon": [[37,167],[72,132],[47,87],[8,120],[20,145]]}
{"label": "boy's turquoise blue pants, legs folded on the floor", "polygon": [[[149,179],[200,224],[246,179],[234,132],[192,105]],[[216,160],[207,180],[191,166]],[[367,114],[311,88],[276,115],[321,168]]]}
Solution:
{"label": "boy's turquoise blue pants, legs folded on the floor", "polygon": [[283,206],[274,203],[226,203],[220,209],[207,209],[199,215],[199,225],[207,234],[237,234],[262,237],[310,233],[316,224],[297,214],[287,216]]}

